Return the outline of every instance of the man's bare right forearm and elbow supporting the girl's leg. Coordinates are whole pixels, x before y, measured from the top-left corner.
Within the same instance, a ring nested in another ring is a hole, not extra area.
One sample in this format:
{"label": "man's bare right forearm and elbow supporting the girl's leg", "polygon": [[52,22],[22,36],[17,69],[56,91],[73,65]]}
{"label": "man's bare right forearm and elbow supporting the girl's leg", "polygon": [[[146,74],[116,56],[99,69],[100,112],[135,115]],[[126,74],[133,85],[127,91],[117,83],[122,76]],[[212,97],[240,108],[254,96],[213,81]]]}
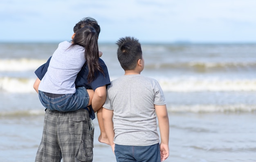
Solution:
{"label": "man's bare right forearm and elbow supporting the girl's leg", "polygon": [[92,98],[92,109],[94,110],[94,112],[98,111],[103,106],[103,104],[106,101],[106,97],[107,97],[106,85],[95,89],[94,95]]}

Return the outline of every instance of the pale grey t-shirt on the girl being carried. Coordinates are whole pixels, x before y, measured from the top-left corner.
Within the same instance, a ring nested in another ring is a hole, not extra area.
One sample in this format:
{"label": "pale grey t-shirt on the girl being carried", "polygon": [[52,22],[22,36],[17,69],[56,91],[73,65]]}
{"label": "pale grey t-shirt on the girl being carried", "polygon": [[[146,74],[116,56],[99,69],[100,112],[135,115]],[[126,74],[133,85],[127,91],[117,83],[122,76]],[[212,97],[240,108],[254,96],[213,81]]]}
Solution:
{"label": "pale grey t-shirt on the girl being carried", "polygon": [[74,82],[85,64],[85,48],[79,45],[70,47],[70,45],[71,43],[67,41],[58,45],[38,90],[54,94],[76,92]]}

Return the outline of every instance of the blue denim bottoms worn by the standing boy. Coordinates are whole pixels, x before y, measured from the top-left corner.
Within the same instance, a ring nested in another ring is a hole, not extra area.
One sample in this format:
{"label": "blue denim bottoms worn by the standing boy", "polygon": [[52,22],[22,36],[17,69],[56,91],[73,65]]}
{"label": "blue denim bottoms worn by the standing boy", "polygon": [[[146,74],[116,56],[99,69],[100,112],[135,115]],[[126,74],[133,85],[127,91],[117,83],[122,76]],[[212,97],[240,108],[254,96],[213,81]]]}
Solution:
{"label": "blue denim bottoms worn by the standing boy", "polygon": [[161,162],[160,146],[125,146],[115,144],[117,162]]}

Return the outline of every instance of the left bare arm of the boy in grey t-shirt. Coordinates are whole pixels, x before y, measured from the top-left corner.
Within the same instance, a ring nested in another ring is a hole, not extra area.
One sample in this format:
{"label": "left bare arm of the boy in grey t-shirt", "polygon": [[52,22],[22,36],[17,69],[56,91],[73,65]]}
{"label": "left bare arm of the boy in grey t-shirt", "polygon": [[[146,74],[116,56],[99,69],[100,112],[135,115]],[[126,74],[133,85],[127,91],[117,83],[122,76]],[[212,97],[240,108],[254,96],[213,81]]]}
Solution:
{"label": "left bare arm of the boy in grey t-shirt", "polygon": [[115,143],[114,143],[114,126],[113,126],[113,110],[108,110],[103,107],[102,109],[102,118],[104,123],[104,128],[106,131],[106,134],[108,136],[108,140],[110,142],[110,146],[112,148],[113,153],[115,154]]}

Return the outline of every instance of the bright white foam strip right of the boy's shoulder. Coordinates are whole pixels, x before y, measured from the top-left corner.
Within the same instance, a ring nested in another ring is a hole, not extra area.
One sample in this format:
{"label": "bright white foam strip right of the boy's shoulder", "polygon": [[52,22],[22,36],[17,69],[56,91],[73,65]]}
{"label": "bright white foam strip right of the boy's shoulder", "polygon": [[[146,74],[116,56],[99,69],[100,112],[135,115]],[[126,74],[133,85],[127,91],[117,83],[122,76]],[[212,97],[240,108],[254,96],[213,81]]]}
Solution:
{"label": "bright white foam strip right of the boy's shoulder", "polygon": [[164,91],[256,91],[256,79],[177,77],[158,81]]}

